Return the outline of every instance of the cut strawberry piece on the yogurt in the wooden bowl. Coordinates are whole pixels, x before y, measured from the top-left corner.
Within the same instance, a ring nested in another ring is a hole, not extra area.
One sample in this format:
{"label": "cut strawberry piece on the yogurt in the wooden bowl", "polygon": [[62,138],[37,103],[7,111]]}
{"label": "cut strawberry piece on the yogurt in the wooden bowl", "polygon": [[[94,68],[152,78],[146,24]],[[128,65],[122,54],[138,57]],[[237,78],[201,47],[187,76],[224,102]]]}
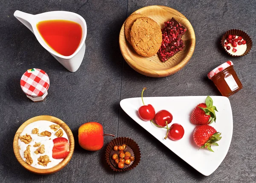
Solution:
{"label": "cut strawberry piece on the yogurt in the wooden bowl", "polygon": [[53,139],[52,158],[63,159],[69,154],[70,143],[64,137]]}

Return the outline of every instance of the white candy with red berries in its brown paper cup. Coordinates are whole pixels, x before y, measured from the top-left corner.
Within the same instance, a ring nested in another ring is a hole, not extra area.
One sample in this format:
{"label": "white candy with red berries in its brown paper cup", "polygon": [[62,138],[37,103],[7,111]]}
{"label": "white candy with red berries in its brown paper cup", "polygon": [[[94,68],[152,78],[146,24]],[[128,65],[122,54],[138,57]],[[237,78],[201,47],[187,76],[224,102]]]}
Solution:
{"label": "white candy with red berries in its brown paper cup", "polygon": [[[242,37],[242,40],[239,40],[240,42],[245,40],[246,44],[241,44],[239,45],[238,42],[236,42],[237,46],[234,47],[232,45],[232,43],[228,43],[225,44],[225,42],[227,41],[227,38],[229,35],[236,35],[235,39],[238,39],[239,36]],[[231,29],[228,30],[227,32],[225,32],[225,34],[222,36],[221,38],[221,46],[223,47],[223,49],[225,50],[225,52],[227,52],[228,55],[232,56],[232,57],[240,57],[240,56],[244,56],[247,55],[248,52],[250,52],[250,49],[253,46],[253,42],[251,40],[251,38],[249,37],[249,35],[247,35],[244,31],[241,31],[239,29]],[[227,49],[227,46],[230,46],[230,49]],[[233,48],[236,49],[236,52],[233,52]]]}

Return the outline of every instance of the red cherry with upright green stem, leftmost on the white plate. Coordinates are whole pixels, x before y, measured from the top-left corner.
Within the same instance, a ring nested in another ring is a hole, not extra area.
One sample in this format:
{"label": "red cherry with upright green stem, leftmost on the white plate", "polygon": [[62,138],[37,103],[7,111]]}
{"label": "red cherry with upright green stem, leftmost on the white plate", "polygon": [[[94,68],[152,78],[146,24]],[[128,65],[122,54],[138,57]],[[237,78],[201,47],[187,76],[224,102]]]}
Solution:
{"label": "red cherry with upright green stem, leftmost on the white plate", "polygon": [[152,105],[145,105],[144,101],[143,101],[143,92],[144,90],[146,90],[147,88],[144,87],[141,93],[141,99],[142,99],[142,103],[143,106],[141,106],[138,110],[139,116],[143,121],[150,121],[154,118],[156,112],[154,110],[154,107]]}

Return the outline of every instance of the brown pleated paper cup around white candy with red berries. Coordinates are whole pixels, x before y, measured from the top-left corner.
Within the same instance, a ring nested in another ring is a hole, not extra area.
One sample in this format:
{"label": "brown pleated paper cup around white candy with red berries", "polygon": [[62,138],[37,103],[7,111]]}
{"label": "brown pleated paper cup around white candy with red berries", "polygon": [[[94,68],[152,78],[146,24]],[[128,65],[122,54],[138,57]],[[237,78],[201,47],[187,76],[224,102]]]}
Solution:
{"label": "brown pleated paper cup around white candy with red berries", "polygon": [[[244,52],[244,54],[242,55],[232,55],[230,54],[229,52],[227,52],[227,50],[225,49],[225,46],[224,46],[224,42],[225,40],[228,38],[228,35],[237,35],[237,36],[241,36],[245,41],[246,41],[246,46],[247,46],[247,49],[246,51]],[[232,56],[232,57],[240,57],[240,56],[244,56],[246,55],[248,52],[250,52],[250,49],[252,48],[253,46],[253,42],[251,40],[251,38],[249,37],[249,35],[247,35],[244,31],[241,31],[239,29],[231,29],[231,30],[228,30],[227,32],[225,32],[225,34],[222,36],[221,38],[221,46],[223,47],[223,49],[225,50],[225,52],[227,52],[228,55]]]}

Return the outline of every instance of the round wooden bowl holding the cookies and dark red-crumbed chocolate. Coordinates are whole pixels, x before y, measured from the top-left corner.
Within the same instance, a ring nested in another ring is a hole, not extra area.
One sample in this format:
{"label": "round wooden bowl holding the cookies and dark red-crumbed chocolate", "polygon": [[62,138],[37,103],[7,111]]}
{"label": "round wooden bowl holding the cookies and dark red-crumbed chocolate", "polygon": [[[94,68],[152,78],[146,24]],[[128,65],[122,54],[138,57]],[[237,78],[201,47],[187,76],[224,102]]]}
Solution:
{"label": "round wooden bowl holding the cookies and dark red-crumbed chocolate", "polygon": [[195,49],[195,32],[189,20],[177,10],[166,6],[146,6],[133,13],[152,18],[161,28],[164,27],[164,22],[171,20],[172,17],[176,18],[187,28],[187,32],[182,37],[185,47],[165,63],[160,61],[157,54],[143,57],[138,55],[126,40],[125,23],[123,23],[119,34],[119,46],[125,61],[137,72],[150,77],[165,77],[182,69],[192,57]]}

